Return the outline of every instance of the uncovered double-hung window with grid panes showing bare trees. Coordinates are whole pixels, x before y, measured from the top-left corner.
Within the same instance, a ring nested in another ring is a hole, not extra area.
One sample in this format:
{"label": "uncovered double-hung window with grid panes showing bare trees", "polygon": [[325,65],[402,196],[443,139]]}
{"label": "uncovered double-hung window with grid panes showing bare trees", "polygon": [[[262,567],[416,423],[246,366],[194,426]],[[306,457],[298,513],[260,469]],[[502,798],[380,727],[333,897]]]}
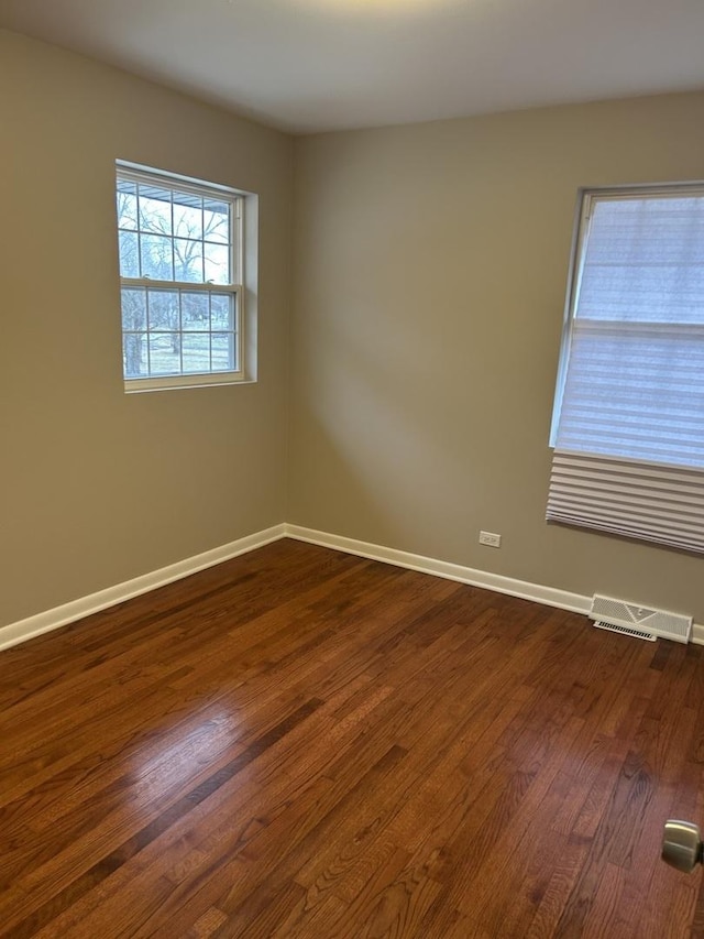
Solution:
{"label": "uncovered double-hung window with grid panes showing bare trees", "polygon": [[243,197],[117,167],[127,391],[242,381]]}

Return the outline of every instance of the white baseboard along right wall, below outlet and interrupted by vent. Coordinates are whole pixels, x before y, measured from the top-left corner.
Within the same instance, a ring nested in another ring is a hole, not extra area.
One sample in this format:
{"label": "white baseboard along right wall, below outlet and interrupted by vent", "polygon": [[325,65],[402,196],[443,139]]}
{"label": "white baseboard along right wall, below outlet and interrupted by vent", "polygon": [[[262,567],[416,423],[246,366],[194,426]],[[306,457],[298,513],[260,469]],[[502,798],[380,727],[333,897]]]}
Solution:
{"label": "white baseboard along right wall, below outlet and interrupted by vent", "polygon": [[[381,560],[397,567],[406,567],[409,570],[420,570],[424,574],[432,574],[436,577],[444,577],[448,580],[458,580],[472,587],[483,587],[494,590],[496,593],[508,593],[510,597],[520,597],[522,600],[532,600],[547,607],[558,607],[560,610],[569,610],[573,613],[588,613],[592,608],[592,598],[581,593],[570,593],[566,590],[558,590],[554,587],[543,587],[540,583],[530,583],[526,580],[515,580],[513,577],[503,577],[499,574],[490,574],[486,570],[476,570],[472,567],[463,567],[459,564],[450,564],[444,560],[424,557],[422,555],[399,552],[396,548],[386,548],[373,545],[369,542],[358,542],[354,538],[343,538],[339,535],[330,535],[327,532],[317,532],[312,528],[302,528],[299,525],[286,525],[286,536],[299,542],[309,542],[326,548],[345,552],[346,554],[369,557],[372,560]],[[692,627],[691,642],[704,645],[704,625],[697,623]]]}

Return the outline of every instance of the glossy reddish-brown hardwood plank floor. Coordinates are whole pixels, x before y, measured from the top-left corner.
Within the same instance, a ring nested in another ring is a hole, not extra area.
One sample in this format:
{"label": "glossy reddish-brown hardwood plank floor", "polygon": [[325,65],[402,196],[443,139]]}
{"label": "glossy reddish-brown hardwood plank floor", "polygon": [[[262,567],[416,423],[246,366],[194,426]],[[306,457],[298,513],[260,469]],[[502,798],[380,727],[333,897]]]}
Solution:
{"label": "glossy reddish-brown hardwood plank floor", "polygon": [[0,936],[704,936],[703,657],[270,545],[0,654]]}

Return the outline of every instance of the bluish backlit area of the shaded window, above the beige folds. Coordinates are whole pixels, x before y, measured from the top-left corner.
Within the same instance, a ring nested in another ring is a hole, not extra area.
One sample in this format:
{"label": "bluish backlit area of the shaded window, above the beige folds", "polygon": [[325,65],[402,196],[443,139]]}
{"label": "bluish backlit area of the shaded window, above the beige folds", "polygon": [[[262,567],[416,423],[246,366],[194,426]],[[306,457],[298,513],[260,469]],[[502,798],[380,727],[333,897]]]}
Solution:
{"label": "bluish backlit area of the shaded window, above the beige folds", "polygon": [[704,194],[594,194],[587,209],[553,443],[704,467]]}

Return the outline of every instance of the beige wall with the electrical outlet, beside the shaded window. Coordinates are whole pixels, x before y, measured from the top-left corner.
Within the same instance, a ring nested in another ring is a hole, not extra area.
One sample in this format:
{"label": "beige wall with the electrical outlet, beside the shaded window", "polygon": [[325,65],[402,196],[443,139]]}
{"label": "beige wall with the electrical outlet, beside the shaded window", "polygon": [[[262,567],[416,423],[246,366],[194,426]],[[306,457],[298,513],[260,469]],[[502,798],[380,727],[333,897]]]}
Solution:
{"label": "beige wall with the electrical outlet, beside the shaded window", "polygon": [[704,177],[704,95],[311,137],[296,166],[288,521],[704,622],[701,558],[543,521],[576,188]]}

